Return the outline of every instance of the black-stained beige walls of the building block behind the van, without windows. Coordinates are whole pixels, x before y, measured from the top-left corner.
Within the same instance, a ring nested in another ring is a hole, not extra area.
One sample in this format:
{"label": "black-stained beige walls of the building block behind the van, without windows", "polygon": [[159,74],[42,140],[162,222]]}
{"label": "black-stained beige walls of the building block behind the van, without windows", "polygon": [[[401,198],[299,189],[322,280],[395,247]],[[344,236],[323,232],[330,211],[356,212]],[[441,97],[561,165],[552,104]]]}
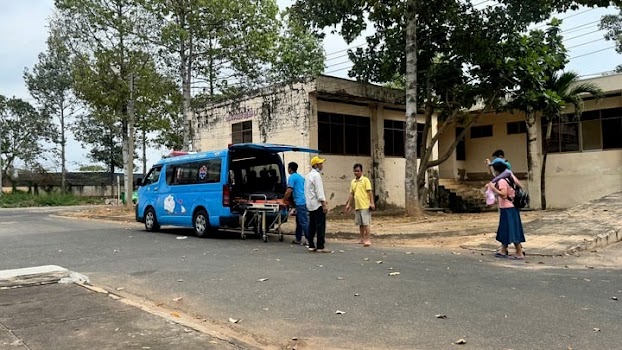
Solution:
{"label": "black-stained beige walls of the building block behind the van, without windows", "polygon": [[[375,194],[390,205],[403,207],[405,159],[384,156],[384,119],[405,120],[403,105],[396,104],[398,95],[399,92],[390,89],[321,77],[313,83],[265,91],[257,97],[240,98],[206,108],[197,115],[194,144],[198,151],[226,148],[232,142],[231,125],[251,120],[253,142],[317,149],[318,139],[326,136],[318,135],[318,111],[370,118],[370,156],[320,154],[327,159],[323,179],[329,206],[335,208],[345,204],[350,180],[354,176],[352,167],[361,163],[364,174],[372,181]],[[424,120],[421,118],[418,122]],[[433,123],[435,129],[436,121]],[[284,161],[296,161],[298,172],[304,175],[310,171],[312,156],[287,152]],[[438,151],[434,149],[432,159],[437,156]]]}

